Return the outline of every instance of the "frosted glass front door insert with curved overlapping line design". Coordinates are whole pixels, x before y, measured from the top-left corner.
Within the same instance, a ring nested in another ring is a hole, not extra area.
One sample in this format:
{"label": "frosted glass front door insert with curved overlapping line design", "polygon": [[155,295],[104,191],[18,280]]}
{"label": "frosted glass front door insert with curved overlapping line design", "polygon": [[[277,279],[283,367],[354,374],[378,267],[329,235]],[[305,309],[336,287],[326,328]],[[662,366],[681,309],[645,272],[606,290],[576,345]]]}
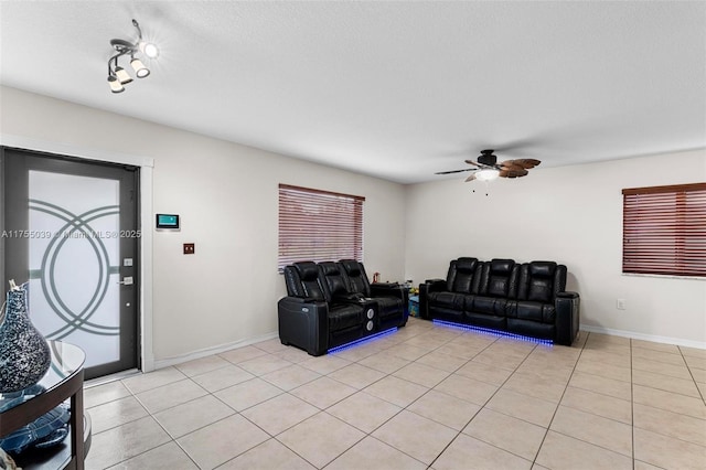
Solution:
{"label": "frosted glass front door insert with curved overlapping line design", "polygon": [[86,367],[118,361],[120,182],[29,177],[30,305],[45,312],[33,322],[47,339],[86,351]]}

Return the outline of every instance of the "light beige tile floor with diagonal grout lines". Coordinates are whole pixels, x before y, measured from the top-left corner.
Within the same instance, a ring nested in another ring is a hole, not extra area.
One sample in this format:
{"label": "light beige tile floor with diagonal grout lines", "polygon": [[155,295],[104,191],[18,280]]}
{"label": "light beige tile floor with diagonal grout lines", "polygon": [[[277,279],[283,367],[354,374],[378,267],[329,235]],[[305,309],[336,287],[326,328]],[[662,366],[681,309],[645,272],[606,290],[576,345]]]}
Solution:
{"label": "light beige tile floor with diagonal grout lines", "polygon": [[312,357],[279,340],[87,387],[88,469],[705,469],[706,351],[547,346],[409,319]]}

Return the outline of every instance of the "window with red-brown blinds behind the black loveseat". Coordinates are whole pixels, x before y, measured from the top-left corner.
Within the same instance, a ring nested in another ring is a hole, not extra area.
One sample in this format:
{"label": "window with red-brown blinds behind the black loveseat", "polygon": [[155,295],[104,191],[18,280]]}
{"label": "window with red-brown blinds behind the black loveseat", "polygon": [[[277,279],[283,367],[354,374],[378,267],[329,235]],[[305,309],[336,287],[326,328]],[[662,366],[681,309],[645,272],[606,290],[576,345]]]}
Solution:
{"label": "window with red-brown blinds behind the black loveseat", "polygon": [[279,185],[278,268],[295,261],[363,260],[365,197]]}

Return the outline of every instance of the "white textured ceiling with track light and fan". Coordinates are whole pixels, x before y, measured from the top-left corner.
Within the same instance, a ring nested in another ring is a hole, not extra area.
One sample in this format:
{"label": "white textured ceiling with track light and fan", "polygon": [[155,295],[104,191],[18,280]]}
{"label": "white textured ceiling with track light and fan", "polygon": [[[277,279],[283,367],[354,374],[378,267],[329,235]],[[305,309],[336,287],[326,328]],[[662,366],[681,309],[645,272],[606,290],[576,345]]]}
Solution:
{"label": "white textured ceiling with track light and fan", "polygon": [[[706,2],[6,1],[0,83],[410,183],[706,147]],[[111,94],[113,38],[161,55]],[[533,170],[537,171],[537,170]]]}

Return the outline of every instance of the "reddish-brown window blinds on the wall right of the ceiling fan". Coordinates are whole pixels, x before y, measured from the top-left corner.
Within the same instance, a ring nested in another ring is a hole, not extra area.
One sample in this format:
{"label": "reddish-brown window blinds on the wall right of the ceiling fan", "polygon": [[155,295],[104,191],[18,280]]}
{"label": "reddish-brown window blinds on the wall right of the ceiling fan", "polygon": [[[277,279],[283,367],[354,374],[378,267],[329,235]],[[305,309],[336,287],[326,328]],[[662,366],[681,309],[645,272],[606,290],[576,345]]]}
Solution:
{"label": "reddish-brown window blinds on the wall right of the ceiling fan", "polygon": [[622,194],[623,273],[706,277],[706,183]]}

